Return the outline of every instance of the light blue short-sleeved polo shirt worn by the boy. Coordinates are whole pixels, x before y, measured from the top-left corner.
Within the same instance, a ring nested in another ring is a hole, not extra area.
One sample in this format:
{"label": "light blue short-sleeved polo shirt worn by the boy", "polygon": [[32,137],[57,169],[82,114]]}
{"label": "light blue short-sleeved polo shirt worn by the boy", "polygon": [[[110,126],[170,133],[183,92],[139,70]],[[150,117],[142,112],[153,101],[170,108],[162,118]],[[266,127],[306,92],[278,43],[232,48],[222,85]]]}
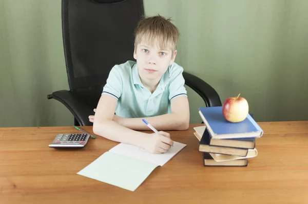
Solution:
{"label": "light blue short-sleeved polo shirt worn by the boy", "polygon": [[151,117],[171,113],[170,101],[178,96],[187,96],[182,73],[183,68],[173,63],[151,93],[141,83],[137,63],[127,61],[111,69],[102,94],[118,100],[115,114],[120,117]]}

